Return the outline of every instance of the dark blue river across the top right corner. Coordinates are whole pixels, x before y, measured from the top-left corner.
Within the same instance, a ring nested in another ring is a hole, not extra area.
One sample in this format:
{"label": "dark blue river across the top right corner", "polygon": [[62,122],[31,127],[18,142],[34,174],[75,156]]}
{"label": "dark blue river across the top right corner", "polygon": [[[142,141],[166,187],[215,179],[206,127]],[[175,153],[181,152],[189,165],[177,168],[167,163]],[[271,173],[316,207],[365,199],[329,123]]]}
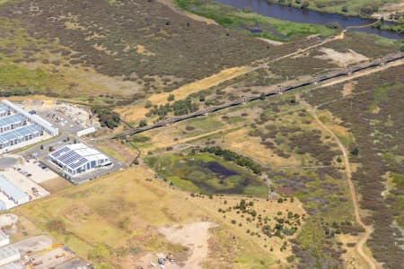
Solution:
{"label": "dark blue river across the top right corner", "polygon": [[[266,0],[216,0],[222,4],[232,5],[243,9],[244,7],[250,7],[251,11],[254,13],[259,13],[261,15],[285,20],[290,22],[300,22],[300,23],[312,23],[326,25],[329,22],[338,22],[339,25],[345,29],[347,26],[362,26],[367,25],[374,20],[363,19],[359,17],[347,17],[338,14],[330,13],[319,13],[314,11],[309,11],[307,9],[298,9],[295,7],[289,7],[282,4],[271,4]],[[384,22],[392,23],[392,22]],[[388,39],[404,39],[403,35],[397,32],[392,32],[389,30],[378,30],[375,28],[367,27],[363,29],[356,29],[358,31],[375,34]]]}

